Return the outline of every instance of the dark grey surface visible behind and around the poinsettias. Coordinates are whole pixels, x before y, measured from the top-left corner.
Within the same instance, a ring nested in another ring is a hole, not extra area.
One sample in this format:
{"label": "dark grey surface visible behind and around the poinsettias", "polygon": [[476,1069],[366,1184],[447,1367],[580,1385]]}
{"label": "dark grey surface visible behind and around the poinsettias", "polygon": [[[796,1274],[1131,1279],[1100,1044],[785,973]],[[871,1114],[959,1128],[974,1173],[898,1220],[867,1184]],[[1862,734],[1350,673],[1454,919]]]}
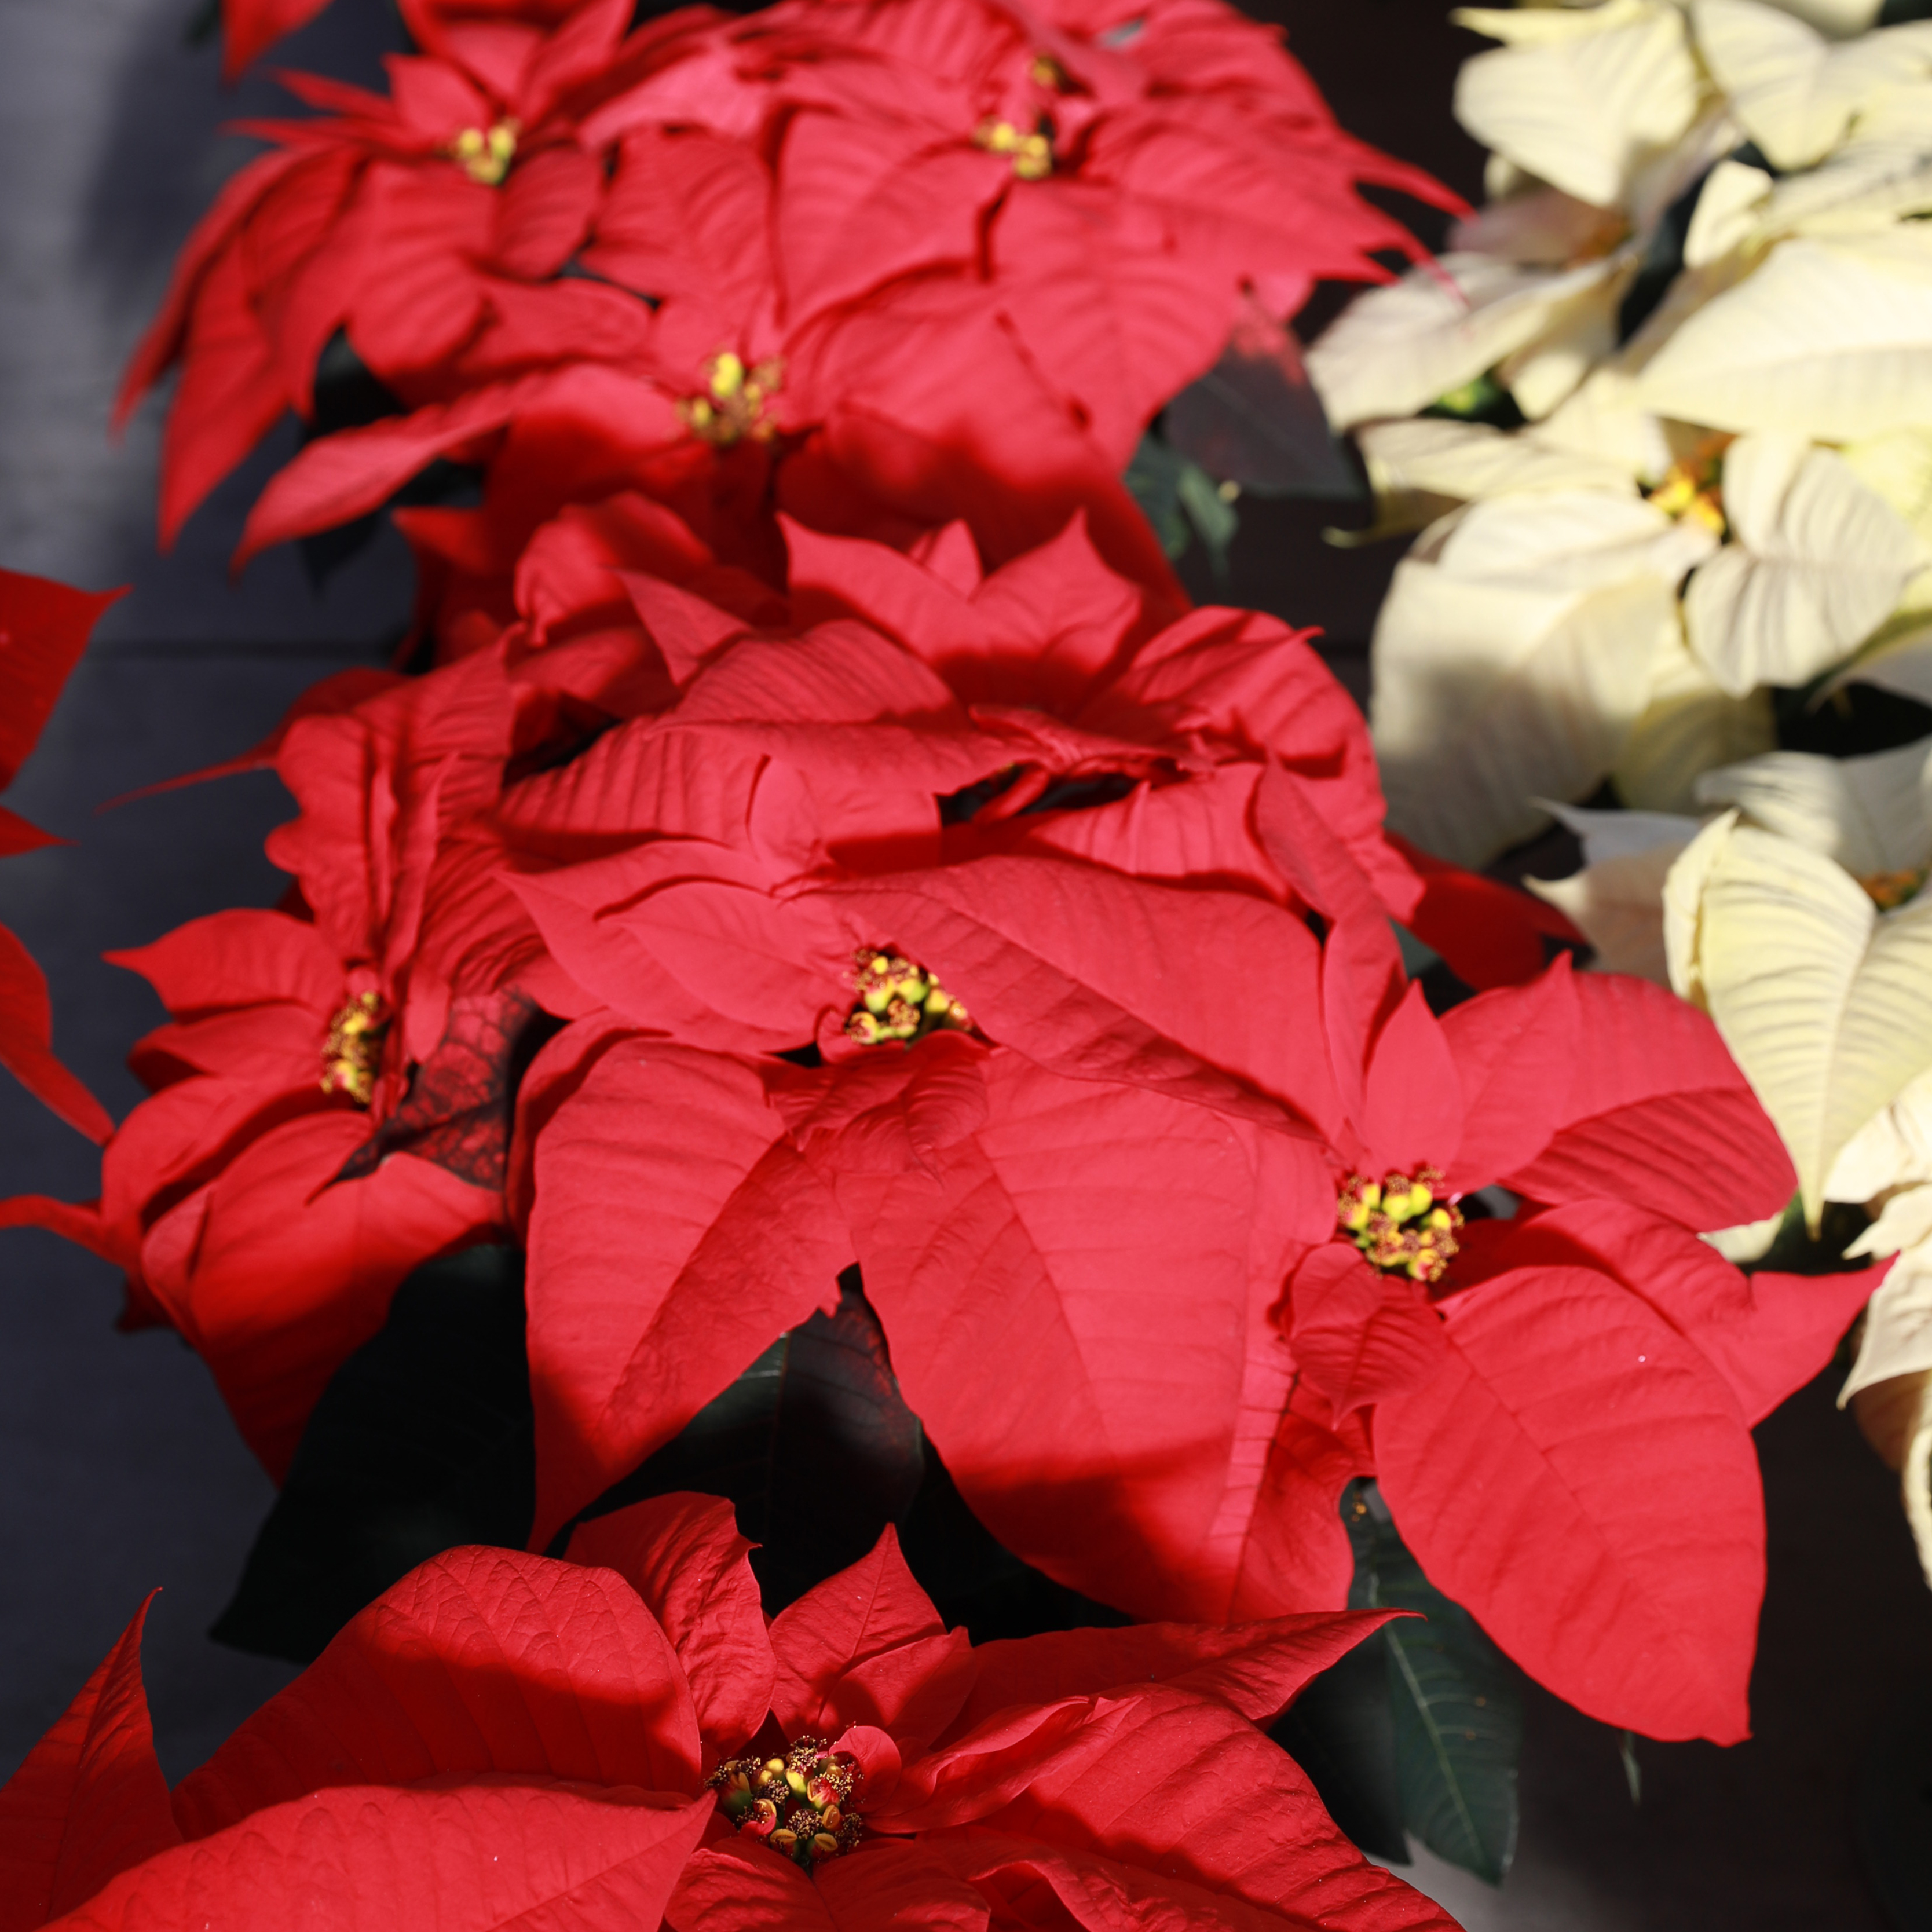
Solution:
{"label": "dark grey surface visible behind and around the poinsettias", "polygon": [[[1480,155],[1447,114],[1480,43],[1435,0],[1275,0],[1271,17],[1343,122],[1474,195]],[[122,792],[257,740],[303,686],[377,661],[410,597],[394,539],[317,597],[288,553],[226,578],[247,502],[288,444],[230,479],[180,549],[153,547],[160,410],[106,439],[122,361],[168,265],[247,149],[218,135],[276,112],[261,79],[222,95],[213,48],[187,50],[195,0],[6,0],[0,8],[0,564],[87,587],[131,583],[8,804],[75,840],[0,867],[0,918],[46,966],[56,1045],[116,1115],[122,1066],[160,1018],[145,983],[100,962],[222,904],[269,902],[263,833],[286,815],[269,777],[170,792],[104,815]],[[336,0],[274,58],[375,81],[381,0]],[[1432,234],[1432,240],[1435,236]],[[1354,512],[1242,504],[1227,601],[1327,630],[1360,690],[1393,553],[1339,553]],[[1196,589],[1211,580],[1194,572]],[[0,1076],[4,1082],[4,1076]],[[83,1198],[93,1150],[0,1086],[0,1184]],[[46,1235],[0,1235],[0,1774],[60,1712],[141,1596],[162,1762],[199,1762],[288,1669],[211,1644],[269,1505],[267,1478],[201,1364],[172,1337],[112,1331],[112,1269]],[[1470,1932],[1845,1928],[1878,1932],[1855,1835],[1859,1766],[1932,1698],[1932,1596],[1895,1486],[1832,1406],[1832,1376],[1758,1432],[1770,1571],[1754,1716],[1733,1750],[1638,1747],[1633,1808],[1615,1735],[1528,1689],[1522,1849],[1501,1893],[1410,1868]],[[1687,1511],[1694,1497],[1683,1497]],[[1928,1772],[1893,1743],[1891,1785],[1932,1837]],[[1932,1917],[1926,1918],[1932,1924]]]}

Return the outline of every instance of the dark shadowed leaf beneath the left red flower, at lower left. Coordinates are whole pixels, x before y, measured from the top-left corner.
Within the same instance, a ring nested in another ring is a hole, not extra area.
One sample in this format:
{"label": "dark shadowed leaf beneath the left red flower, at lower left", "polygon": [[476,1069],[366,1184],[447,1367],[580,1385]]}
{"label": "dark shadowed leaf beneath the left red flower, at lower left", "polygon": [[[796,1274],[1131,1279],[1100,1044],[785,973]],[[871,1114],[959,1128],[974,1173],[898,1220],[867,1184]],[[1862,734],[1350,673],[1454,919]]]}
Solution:
{"label": "dark shadowed leaf beneath the left red flower, at lower left", "polygon": [[524,1256],[429,1262],[323,1391],[209,1634],[309,1663],[417,1563],[458,1544],[522,1548],[535,1472]]}

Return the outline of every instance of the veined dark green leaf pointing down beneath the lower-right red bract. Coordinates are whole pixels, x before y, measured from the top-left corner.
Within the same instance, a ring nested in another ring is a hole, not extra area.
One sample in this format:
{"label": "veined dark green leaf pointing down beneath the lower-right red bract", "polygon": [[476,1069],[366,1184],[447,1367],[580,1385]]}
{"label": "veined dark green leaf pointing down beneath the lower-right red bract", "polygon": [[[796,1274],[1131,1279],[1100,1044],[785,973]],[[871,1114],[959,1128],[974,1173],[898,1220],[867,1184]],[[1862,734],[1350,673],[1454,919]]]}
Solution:
{"label": "veined dark green leaf pointing down beneath the lower-right red bract", "polygon": [[1422,1575],[1372,1482],[1350,1484],[1343,1520],[1356,1551],[1350,1607],[1428,1619],[1381,1631],[1403,1822],[1437,1857],[1499,1886],[1517,1853],[1515,1673],[1476,1619]]}

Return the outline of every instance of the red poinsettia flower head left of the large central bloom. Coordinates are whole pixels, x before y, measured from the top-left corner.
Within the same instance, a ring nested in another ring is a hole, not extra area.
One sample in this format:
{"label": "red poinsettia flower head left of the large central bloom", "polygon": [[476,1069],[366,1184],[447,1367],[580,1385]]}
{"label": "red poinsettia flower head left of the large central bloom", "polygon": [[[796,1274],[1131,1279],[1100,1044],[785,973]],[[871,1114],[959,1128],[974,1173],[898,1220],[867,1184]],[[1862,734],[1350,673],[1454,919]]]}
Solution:
{"label": "red poinsettia flower head left of the large central bloom", "polygon": [[[547,670],[568,682],[578,655]],[[4,1208],[126,1267],[133,1314],[195,1345],[274,1474],[396,1283],[500,1223],[516,1074],[543,1010],[587,1005],[487,819],[553,709],[500,653],[311,694],[270,742],[301,804],[269,838],[298,910],[112,954],[174,1016],[133,1057],[155,1097],[108,1144],[99,1204]]]}

